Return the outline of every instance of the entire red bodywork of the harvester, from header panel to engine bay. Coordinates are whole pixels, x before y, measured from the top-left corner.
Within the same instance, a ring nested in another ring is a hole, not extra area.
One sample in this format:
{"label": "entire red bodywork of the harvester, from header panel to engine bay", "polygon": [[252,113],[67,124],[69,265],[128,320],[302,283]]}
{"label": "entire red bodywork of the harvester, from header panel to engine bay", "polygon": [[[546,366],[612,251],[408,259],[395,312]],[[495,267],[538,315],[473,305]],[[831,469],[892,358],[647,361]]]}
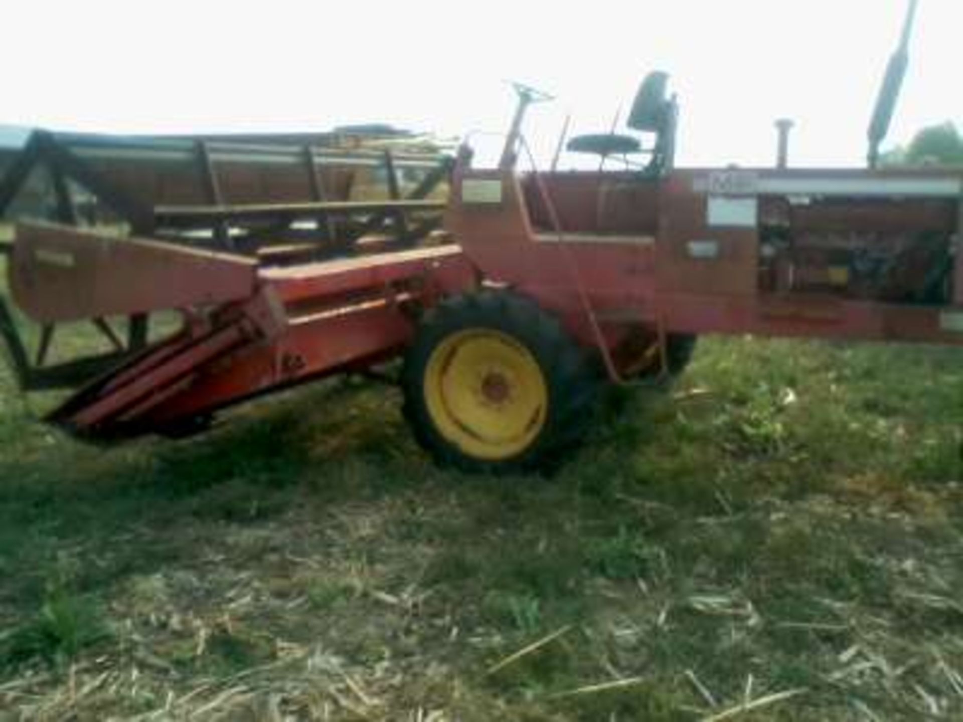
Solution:
{"label": "entire red bodywork of the harvester, from header panel to engine bay", "polygon": [[63,227],[21,230],[12,285],[38,321],[161,308],[186,318],[176,337],[52,419],[134,432],[365,368],[410,342],[421,308],[482,278],[557,313],[614,379],[669,333],[963,344],[959,174],[519,177],[462,157],[452,188],[445,222],[458,245],[287,269]]}

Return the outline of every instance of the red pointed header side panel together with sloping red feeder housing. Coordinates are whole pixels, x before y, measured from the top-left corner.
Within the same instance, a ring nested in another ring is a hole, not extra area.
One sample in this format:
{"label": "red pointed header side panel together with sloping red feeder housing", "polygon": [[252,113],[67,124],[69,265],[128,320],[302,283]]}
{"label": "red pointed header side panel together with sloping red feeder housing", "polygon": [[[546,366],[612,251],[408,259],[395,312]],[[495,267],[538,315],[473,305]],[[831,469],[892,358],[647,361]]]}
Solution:
{"label": "red pointed header side panel together with sloping red feeder housing", "polygon": [[[122,282],[106,282],[107,271]],[[478,277],[456,246],[258,270],[237,256],[53,225],[21,227],[10,272],[21,307],[39,322],[184,313],[174,337],[82,388],[50,416],[99,435],[164,427],[388,359],[410,341],[416,305],[467,290]]]}

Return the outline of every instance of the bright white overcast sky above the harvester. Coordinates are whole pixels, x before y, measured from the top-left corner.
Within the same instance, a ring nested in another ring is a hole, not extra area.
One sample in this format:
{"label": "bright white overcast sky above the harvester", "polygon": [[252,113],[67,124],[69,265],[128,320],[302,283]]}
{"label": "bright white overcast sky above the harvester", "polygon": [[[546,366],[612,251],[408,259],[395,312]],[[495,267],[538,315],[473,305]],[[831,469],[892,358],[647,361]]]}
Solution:
{"label": "bright white overcast sky above the harvester", "polygon": [[[5,0],[0,122],[104,132],[501,131],[520,80],[559,100],[552,148],[607,131],[650,69],[679,93],[682,165],[862,164],[905,0]],[[963,123],[963,0],[921,0],[889,144]]]}

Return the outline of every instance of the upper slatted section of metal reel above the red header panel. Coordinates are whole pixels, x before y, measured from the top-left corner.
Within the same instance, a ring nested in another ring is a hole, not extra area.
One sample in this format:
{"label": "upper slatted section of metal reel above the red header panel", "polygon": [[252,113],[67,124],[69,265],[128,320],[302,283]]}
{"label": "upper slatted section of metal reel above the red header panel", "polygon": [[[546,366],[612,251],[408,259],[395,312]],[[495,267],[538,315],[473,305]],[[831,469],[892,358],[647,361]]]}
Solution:
{"label": "upper slatted section of metal reel above the red header panel", "polygon": [[[309,143],[266,143],[266,139],[260,144],[249,144],[203,139],[138,140],[35,131],[0,177],[0,219],[8,215],[13,200],[24,188],[32,171],[44,168],[54,186],[60,222],[76,224],[78,220],[78,210],[66,183],[71,181],[103,202],[136,234],[252,255],[262,248],[285,245],[285,238],[294,239],[301,245],[302,252],[295,254],[295,260],[303,260],[305,256],[310,258],[312,252],[315,257],[344,253],[357,240],[372,234],[390,236],[399,247],[405,247],[440,227],[444,203],[431,203],[426,199],[450,174],[452,159],[448,156],[404,153],[391,148],[351,150],[323,148]],[[104,164],[110,168],[111,163],[128,164],[123,168],[136,163],[134,168],[141,168],[143,172],[161,172],[164,164],[187,163],[190,168],[188,176],[173,191],[180,197],[190,193],[187,186],[193,185],[200,193],[189,204],[172,204],[165,202],[164,189],[161,189],[157,191],[161,195],[154,197],[153,202],[145,202],[142,196],[124,187],[122,170],[113,177],[105,171]],[[99,164],[100,168],[94,164]],[[239,164],[263,168],[264,177],[269,180],[280,178],[277,174],[281,171],[287,173],[281,182],[290,185],[295,179],[296,197],[283,202],[257,203],[256,210],[252,209],[250,213],[241,211],[251,204],[232,202],[225,191],[225,184],[230,185],[237,177],[237,171],[232,168]],[[384,171],[388,202],[351,206],[351,201],[332,196],[325,188],[325,168],[378,167]],[[400,168],[427,170],[422,182],[406,195],[402,193]],[[327,203],[335,205],[326,206]],[[409,221],[412,214],[426,213],[428,219]],[[333,215],[340,217],[340,227],[332,223]],[[295,220],[311,219],[318,221],[314,229],[292,227]],[[238,227],[232,227],[232,224]],[[279,242],[278,239],[282,240]],[[326,247],[329,245],[333,247]],[[276,255],[272,257],[276,258]]]}

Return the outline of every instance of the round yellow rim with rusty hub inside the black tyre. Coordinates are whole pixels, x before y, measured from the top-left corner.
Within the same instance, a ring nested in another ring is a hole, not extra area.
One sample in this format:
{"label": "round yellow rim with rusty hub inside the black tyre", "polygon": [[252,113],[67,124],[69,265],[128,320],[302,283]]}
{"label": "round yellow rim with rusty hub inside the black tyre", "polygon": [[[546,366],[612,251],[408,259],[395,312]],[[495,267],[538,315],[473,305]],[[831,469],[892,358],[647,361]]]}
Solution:
{"label": "round yellow rim with rusty hub inside the black tyre", "polygon": [[459,331],[431,352],[425,400],[445,439],[491,461],[527,450],[548,412],[548,388],[532,352],[487,328]]}

